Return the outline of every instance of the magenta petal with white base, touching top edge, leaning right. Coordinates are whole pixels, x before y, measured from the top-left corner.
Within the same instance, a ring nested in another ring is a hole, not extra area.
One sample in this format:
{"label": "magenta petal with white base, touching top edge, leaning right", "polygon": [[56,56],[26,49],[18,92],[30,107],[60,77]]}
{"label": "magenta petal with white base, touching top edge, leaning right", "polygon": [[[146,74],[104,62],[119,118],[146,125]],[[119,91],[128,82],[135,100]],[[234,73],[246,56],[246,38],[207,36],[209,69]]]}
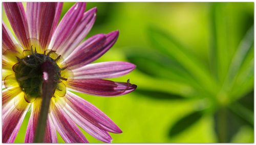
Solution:
{"label": "magenta petal with white base, touching top edge, leaning right", "polygon": [[48,49],[61,49],[61,44],[65,43],[69,39],[69,36],[72,35],[74,29],[79,24],[85,9],[86,3],[76,3],[69,9],[53,33]]}

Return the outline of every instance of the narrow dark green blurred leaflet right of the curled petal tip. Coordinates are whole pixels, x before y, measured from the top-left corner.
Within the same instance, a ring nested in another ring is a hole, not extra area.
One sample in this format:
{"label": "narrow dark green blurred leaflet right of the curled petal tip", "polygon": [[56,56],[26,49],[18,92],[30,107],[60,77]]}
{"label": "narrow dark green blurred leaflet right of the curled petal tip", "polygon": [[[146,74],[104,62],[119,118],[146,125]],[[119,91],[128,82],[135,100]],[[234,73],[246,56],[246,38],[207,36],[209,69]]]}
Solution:
{"label": "narrow dark green blurred leaflet right of the curled petal tip", "polygon": [[188,99],[185,98],[184,96],[181,96],[179,94],[171,94],[168,92],[163,92],[163,91],[157,91],[157,90],[142,90],[142,89],[137,89],[135,93],[138,93],[139,97],[140,96],[146,96],[147,98],[150,99],[157,99],[157,100],[184,100]]}

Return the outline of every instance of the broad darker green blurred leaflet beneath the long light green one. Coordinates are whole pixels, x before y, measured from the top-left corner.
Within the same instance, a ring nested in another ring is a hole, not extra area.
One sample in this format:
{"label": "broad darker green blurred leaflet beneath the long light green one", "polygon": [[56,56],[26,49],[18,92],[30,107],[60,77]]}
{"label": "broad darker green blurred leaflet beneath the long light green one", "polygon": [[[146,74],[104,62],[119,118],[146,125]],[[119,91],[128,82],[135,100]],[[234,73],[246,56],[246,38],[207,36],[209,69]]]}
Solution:
{"label": "broad darker green blurred leaflet beneath the long light green one", "polygon": [[200,87],[198,82],[184,67],[161,53],[151,49],[130,49],[126,52],[129,62],[136,64],[137,69],[151,77],[175,80]]}

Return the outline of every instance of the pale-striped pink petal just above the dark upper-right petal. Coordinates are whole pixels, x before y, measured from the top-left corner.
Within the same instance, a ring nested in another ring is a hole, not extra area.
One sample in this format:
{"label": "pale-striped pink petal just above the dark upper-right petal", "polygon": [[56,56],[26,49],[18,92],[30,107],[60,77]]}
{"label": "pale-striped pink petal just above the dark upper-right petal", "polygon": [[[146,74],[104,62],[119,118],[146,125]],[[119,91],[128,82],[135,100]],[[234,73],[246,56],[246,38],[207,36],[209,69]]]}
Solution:
{"label": "pale-striped pink petal just above the dark upper-right petal", "polygon": [[74,29],[72,35],[67,38],[67,41],[63,43],[58,49],[58,53],[64,58],[68,57],[76,48],[76,46],[87,36],[96,19],[96,8],[92,8],[83,14],[81,21]]}

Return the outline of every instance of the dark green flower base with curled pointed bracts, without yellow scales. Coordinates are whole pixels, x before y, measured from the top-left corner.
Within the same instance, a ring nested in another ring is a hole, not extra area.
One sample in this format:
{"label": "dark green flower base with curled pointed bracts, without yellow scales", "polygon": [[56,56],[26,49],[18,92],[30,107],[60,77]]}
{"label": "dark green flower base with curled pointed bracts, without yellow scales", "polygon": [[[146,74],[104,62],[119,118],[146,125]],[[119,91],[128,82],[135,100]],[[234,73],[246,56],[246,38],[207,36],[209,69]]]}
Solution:
{"label": "dark green flower base with curled pointed bracts, without yellow scales", "polygon": [[[29,50],[26,50],[29,51]],[[18,63],[13,65],[13,71],[15,72],[15,78],[20,86],[20,88],[25,92],[25,99],[27,102],[31,102],[35,100],[38,96],[41,96],[41,86],[42,86],[42,79],[47,79],[44,76],[44,72],[42,71],[42,64],[44,62],[50,62],[54,66],[54,78],[53,86],[54,90],[57,89],[62,91],[61,88],[58,87],[57,83],[60,83],[61,80],[67,80],[67,78],[62,78],[60,75],[61,70],[65,70],[67,67],[59,68],[57,65],[57,61],[60,58],[60,55],[56,59],[52,59],[50,57],[51,53],[55,53],[55,51],[49,51],[46,54],[39,54],[33,51],[31,46],[31,54],[24,58],[18,58]]]}

